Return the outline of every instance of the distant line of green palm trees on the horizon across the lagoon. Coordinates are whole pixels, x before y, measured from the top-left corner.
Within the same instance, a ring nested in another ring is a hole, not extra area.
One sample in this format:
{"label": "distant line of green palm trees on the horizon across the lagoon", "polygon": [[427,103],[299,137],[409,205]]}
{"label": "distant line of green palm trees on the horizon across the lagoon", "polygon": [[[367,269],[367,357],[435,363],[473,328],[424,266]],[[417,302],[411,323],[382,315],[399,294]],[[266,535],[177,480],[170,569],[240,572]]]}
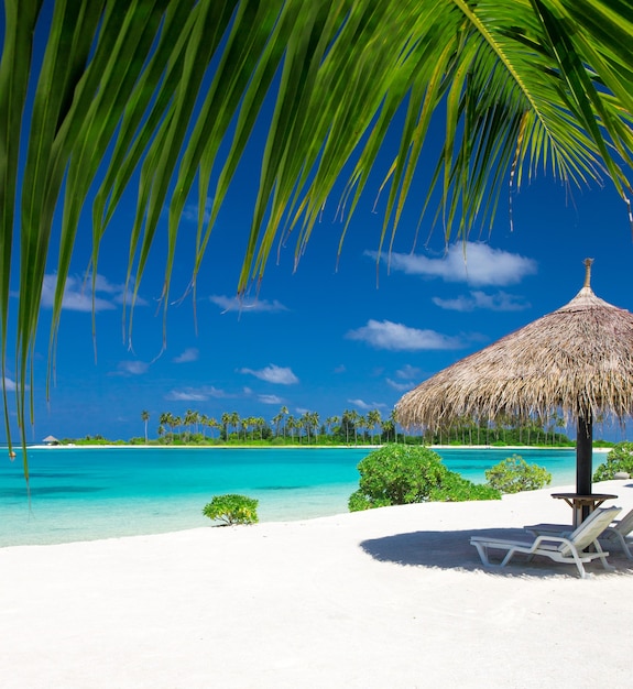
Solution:
{"label": "distant line of green palm trees on the horizon across the lagoon", "polygon": [[240,416],[225,412],[218,418],[195,409],[184,415],[163,412],[159,416],[157,437],[150,440],[151,415],[141,412],[144,437],[132,442],[176,444],[273,444],[273,445],[383,445],[385,442],[415,442],[425,445],[571,445],[565,429],[565,419],[553,414],[547,419],[522,420],[505,416],[493,422],[473,418],[455,419],[437,431],[411,434],[403,429],[392,409],[383,418],[380,409],[359,414],[345,409],[340,416],[320,418],[318,412],[295,416],[282,406],[268,422],[262,416]]}

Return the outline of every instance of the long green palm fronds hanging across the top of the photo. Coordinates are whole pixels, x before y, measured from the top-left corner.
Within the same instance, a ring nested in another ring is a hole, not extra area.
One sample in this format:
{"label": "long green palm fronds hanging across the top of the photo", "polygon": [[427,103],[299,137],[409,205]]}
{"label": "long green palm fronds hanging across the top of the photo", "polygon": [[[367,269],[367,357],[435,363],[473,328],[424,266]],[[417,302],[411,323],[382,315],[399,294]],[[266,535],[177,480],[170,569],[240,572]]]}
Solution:
{"label": "long green palm fronds hanging across the top of the photo", "polygon": [[[197,193],[195,285],[238,163],[271,99],[238,291],[261,277],[280,237],[294,232],[301,254],[343,169],[345,190],[335,200],[347,229],[403,111],[400,150],[385,174],[383,241],[391,241],[413,193],[421,214],[438,194],[433,211],[448,239],[491,220],[509,178],[519,187],[537,167],[566,184],[610,179],[624,199],[631,189],[627,0],[4,0],[4,12],[1,359],[4,380],[17,243],[22,429],[44,273],[56,264],[54,344],[88,196],[96,278],[103,232],[125,189],[138,184],[128,271],[134,289],[168,206],[166,303],[185,203]],[[46,50],[33,58],[42,32]],[[426,162],[437,117],[445,143],[432,161],[433,183],[421,193],[414,171]]]}

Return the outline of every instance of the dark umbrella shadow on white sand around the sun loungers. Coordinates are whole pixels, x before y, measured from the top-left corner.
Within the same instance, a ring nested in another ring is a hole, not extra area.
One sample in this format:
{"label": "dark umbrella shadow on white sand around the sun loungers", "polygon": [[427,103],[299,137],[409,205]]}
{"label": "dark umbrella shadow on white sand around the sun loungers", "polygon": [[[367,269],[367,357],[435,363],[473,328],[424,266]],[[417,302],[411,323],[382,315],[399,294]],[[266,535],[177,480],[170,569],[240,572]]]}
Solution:
{"label": "dark umbrella shadow on white sand around the sun loungers", "polygon": [[[363,540],[360,547],[375,560],[396,562],[405,566],[422,566],[439,569],[459,569],[462,571],[483,570],[491,575],[503,577],[577,577],[575,565],[560,565],[548,558],[535,557],[527,561],[524,555],[515,555],[511,564],[501,568],[487,568],[479,559],[474,546],[470,545],[471,536],[508,538],[532,543],[534,536],[522,528],[481,528],[459,532],[412,532],[396,534],[382,538]],[[495,556],[501,551],[492,551],[491,561],[498,561]],[[609,562],[619,573],[633,575],[633,562],[623,554],[610,551]],[[586,565],[588,573],[612,573],[602,568],[599,562]]]}

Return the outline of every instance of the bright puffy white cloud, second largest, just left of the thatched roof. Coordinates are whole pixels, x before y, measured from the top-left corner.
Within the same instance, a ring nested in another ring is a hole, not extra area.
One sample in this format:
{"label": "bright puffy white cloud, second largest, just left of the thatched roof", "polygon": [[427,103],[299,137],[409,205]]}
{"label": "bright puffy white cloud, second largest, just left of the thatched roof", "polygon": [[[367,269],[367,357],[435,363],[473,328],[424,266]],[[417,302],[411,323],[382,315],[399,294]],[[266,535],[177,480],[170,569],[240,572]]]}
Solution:
{"label": "bright puffy white cloud, second largest, just left of the thatched roof", "polygon": [[367,342],[376,349],[391,351],[419,351],[424,349],[459,349],[463,342],[435,330],[418,330],[391,320],[370,319],[367,326],[349,330],[350,340]]}

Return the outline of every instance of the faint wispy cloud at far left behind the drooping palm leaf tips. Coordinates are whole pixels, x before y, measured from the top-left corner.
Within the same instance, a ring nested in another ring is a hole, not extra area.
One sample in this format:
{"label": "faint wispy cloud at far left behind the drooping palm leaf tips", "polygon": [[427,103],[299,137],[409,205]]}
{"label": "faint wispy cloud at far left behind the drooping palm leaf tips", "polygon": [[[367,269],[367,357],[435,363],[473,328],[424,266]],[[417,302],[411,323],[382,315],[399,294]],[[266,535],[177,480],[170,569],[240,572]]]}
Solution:
{"label": "faint wispy cloud at far left behind the drooping palm leaf tips", "polygon": [[[52,308],[57,286],[57,275],[44,275],[42,285],[42,306]],[[91,313],[112,310],[118,304],[127,302],[131,304],[132,294],[130,291],[125,293],[125,285],[111,283],[103,275],[97,275],[95,283],[95,300],[92,302],[92,282],[91,277],[87,278],[69,275],[64,287],[64,297],[62,308],[73,311]],[[135,304],[144,306],[146,302],[137,297]]]}

